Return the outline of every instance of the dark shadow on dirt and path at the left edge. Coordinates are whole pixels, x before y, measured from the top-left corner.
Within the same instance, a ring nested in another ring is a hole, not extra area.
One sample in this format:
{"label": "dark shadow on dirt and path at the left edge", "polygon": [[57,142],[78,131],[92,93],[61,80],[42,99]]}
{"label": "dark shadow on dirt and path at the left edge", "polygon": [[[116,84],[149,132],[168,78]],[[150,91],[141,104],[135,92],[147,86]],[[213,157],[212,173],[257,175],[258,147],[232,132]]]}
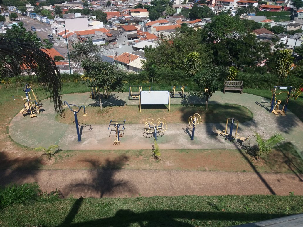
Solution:
{"label": "dark shadow on dirt and path at the left edge", "polygon": [[26,178],[33,178],[31,182],[36,182],[40,161],[37,157],[9,159],[5,152],[0,152],[0,186],[24,183]]}

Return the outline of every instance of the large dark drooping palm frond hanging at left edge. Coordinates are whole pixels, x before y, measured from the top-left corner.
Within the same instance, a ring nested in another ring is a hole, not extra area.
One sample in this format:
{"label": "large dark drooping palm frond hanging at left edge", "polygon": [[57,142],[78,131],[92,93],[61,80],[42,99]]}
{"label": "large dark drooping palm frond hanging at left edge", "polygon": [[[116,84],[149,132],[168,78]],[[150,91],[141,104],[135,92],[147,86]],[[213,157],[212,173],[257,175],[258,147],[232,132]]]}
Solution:
{"label": "large dark drooping palm frond hanging at left edge", "polygon": [[17,38],[0,38],[0,68],[3,75],[6,70],[12,72],[28,69],[28,73],[37,78],[38,83],[46,94],[51,97],[56,112],[64,117],[62,107],[62,81],[58,68],[53,59],[35,47],[33,42],[24,42]]}

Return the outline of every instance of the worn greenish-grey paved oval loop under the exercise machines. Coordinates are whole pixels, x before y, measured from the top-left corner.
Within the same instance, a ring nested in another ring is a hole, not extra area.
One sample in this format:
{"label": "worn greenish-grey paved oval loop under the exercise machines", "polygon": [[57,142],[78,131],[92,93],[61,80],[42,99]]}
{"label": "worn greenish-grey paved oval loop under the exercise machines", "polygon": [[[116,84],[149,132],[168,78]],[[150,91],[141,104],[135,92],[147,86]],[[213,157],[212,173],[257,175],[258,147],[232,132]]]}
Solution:
{"label": "worn greenish-grey paved oval loop under the exercise machines", "polygon": [[[128,93],[113,93],[109,99],[102,100],[103,105],[138,105],[139,100],[128,100]],[[89,98],[89,93],[66,94],[62,96],[63,101],[69,104],[77,105],[98,105]],[[150,149],[153,138],[145,138],[142,129],[144,124],[127,124],[125,136],[121,145],[113,146],[114,137],[108,137],[108,125],[92,125],[82,129],[82,141],[77,142],[75,125],[59,123],[55,120],[55,111],[48,100],[42,101],[45,111],[38,114],[38,117],[22,117],[17,114],[9,126],[9,134],[16,142],[28,146],[48,147],[51,144],[58,144],[62,150],[114,150],[114,149]],[[171,98],[171,104],[201,104],[204,100],[187,96],[186,98]],[[253,119],[240,123],[238,132],[241,136],[247,137],[252,132],[258,131],[266,135],[281,133],[287,141],[291,142],[302,156],[303,140],[302,129],[303,123],[290,111],[286,117],[276,117],[273,113],[268,112],[270,100],[251,94],[226,93],[221,91],[215,92],[211,97],[210,103],[231,103],[247,107],[254,114]],[[138,117],[140,113],[138,111]],[[233,117],[233,116],[230,116]],[[124,119],[122,119],[124,120]],[[195,141],[191,141],[189,135],[185,133],[185,124],[171,124],[167,122],[168,130],[163,137],[159,137],[161,149],[235,149],[234,143],[224,140],[224,137],[216,136],[212,132],[213,126],[223,130],[224,124],[204,123],[200,124],[195,131]]]}

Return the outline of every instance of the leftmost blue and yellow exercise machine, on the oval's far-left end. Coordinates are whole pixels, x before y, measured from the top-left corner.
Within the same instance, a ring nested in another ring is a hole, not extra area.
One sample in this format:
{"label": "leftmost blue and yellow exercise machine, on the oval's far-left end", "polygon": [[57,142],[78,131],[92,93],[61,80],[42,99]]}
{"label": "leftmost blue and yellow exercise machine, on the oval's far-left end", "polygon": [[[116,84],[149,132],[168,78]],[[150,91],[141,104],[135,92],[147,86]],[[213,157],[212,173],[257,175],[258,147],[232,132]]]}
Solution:
{"label": "leftmost blue and yellow exercise machine, on the oval's far-left end", "polygon": [[[20,110],[19,113],[22,113],[23,117],[25,117],[25,114],[27,113],[31,118],[36,117],[35,113],[40,113],[39,111],[40,107],[37,106],[38,100],[35,96],[35,93],[32,90],[32,87],[30,87],[28,84],[25,84],[23,91],[25,92],[25,98],[23,96],[18,96],[18,95],[13,96],[14,100],[16,101],[23,101],[23,102],[25,101],[25,103],[23,103],[24,108]],[[32,95],[34,96],[35,100],[32,100],[30,91],[32,91]]]}

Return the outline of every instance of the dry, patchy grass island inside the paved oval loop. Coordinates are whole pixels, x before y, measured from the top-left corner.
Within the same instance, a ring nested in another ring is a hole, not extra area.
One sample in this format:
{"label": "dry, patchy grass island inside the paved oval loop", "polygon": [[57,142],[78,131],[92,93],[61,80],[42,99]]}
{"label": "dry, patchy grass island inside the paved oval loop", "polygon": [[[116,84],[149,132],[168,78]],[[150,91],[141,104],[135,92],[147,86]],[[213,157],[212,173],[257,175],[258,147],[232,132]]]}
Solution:
{"label": "dry, patchy grass island inside the paved oval loop", "polygon": [[[162,108],[159,108],[159,105],[155,107],[152,105],[142,106],[141,108],[143,109],[139,113],[138,106],[105,107],[104,113],[101,114],[100,107],[87,106],[85,111],[88,115],[78,114],[78,121],[84,124],[108,124],[110,120],[127,119],[128,124],[135,124],[143,123],[147,118],[156,120],[163,117],[168,123],[188,123],[190,116],[199,113],[202,123],[225,123],[229,116],[234,116],[239,122],[251,120],[253,117],[253,113],[248,108],[236,104],[208,104],[208,112],[205,111],[205,105],[195,107],[170,105],[170,112],[165,105],[162,105]],[[56,119],[61,123],[68,124],[75,120],[72,111],[65,112],[65,119],[58,115]]]}

